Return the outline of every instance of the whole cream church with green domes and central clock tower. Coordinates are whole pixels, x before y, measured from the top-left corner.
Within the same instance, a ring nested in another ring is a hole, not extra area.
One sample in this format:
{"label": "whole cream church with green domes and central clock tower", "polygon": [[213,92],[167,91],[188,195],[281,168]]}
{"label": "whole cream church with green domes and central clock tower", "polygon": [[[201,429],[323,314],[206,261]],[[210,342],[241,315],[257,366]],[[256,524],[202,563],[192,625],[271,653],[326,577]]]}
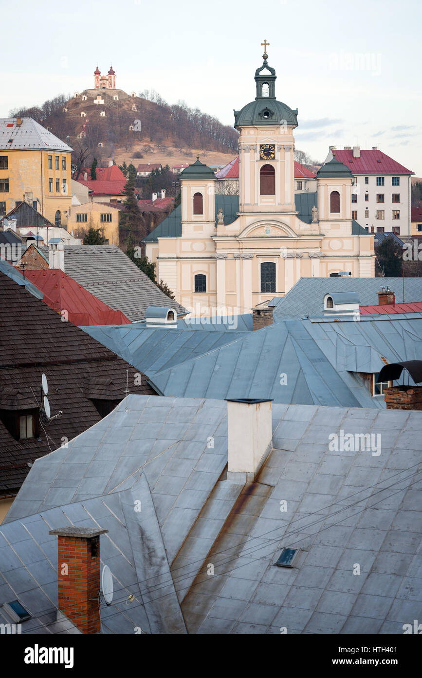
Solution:
{"label": "whole cream church with green domes and central clock tower", "polygon": [[192,315],[250,313],[301,277],[375,275],[373,235],[352,219],[350,169],[334,157],[316,193],[295,195],[298,111],[277,101],[275,69],[262,58],[255,100],[234,111],[239,195],[218,195],[198,156],[179,176],[181,205],[143,241],[158,280]]}

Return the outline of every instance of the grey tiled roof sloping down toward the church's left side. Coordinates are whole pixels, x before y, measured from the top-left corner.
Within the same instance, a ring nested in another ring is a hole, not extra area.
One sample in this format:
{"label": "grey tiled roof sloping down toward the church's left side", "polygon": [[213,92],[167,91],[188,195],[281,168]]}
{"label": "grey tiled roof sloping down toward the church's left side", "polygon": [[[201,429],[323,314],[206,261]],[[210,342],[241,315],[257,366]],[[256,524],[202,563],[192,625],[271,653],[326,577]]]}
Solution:
{"label": "grey tiled roof sloping down toward the church's left side", "polygon": [[145,318],[148,306],[186,309],[170,299],[117,245],[64,245],[64,270],[77,283],[131,321]]}

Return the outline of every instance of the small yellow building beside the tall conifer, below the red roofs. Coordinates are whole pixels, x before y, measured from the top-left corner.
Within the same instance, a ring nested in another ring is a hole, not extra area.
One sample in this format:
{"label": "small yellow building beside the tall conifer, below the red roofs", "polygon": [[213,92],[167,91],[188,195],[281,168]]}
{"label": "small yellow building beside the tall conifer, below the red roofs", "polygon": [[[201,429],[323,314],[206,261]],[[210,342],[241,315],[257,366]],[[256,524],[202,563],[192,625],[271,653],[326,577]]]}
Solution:
{"label": "small yellow building beside the tall conifer, below the red roofs", "polygon": [[89,228],[99,228],[107,244],[119,245],[119,212],[123,208],[122,203],[95,203],[91,200],[83,205],[73,205],[68,231],[83,238]]}

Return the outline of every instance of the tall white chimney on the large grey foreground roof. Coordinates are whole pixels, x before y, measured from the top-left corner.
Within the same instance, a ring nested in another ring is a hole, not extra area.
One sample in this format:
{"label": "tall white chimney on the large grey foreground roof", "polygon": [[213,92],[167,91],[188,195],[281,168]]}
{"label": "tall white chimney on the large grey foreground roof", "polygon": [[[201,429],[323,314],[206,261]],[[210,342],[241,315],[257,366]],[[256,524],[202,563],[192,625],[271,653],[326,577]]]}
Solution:
{"label": "tall white chimney on the large grey foreground roof", "polygon": [[254,481],[272,446],[271,400],[228,399],[227,479]]}

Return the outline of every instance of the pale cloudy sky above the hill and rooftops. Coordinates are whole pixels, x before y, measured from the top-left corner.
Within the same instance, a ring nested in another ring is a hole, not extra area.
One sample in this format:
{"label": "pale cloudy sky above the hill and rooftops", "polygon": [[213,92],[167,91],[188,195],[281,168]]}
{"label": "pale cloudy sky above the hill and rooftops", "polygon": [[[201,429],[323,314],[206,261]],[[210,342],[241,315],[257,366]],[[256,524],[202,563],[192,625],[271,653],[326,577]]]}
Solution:
{"label": "pale cloudy sky above the hill and rooftops", "polygon": [[233,125],[255,98],[254,73],[275,68],[277,99],[298,108],[296,148],[378,148],[422,177],[419,0],[0,0],[9,33],[0,117],[93,87],[97,63],[116,87]]}

